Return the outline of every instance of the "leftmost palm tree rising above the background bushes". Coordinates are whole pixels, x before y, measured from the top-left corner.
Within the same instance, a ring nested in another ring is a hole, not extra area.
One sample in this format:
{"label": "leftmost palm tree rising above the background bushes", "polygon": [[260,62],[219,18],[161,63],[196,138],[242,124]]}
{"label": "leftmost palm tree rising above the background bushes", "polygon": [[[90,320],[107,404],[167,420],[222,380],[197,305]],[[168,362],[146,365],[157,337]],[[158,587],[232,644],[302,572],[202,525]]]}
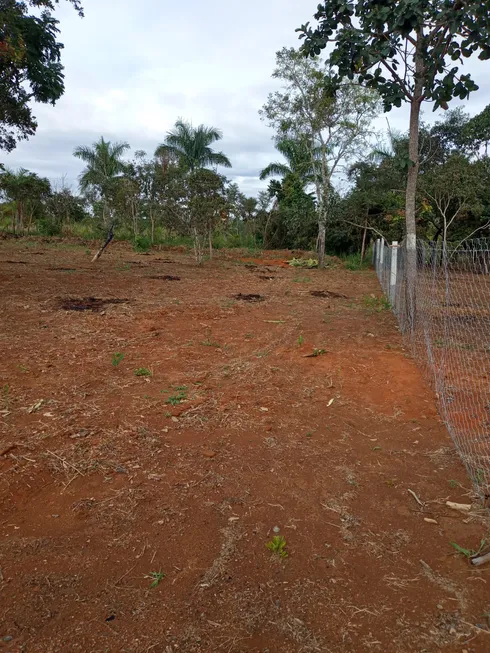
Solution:
{"label": "leftmost palm tree rising above the background bushes", "polygon": [[73,156],[87,164],[79,177],[80,189],[83,192],[94,189],[98,193],[102,200],[104,224],[107,221],[108,196],[113,182],[126,171],[127,164],[122,156],[128,149],[128,143],[111,143],[101,136],[92,146],[79,146],[73,151]]}

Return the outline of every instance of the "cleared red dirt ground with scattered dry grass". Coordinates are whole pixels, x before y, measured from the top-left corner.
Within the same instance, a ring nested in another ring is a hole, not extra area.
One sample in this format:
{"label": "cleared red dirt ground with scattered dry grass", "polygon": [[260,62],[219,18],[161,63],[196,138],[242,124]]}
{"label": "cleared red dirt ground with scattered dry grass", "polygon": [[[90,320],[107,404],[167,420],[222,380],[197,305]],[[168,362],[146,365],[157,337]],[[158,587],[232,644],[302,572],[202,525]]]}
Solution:
{"label": "cleared red dirt ground with scattered dry grass", "polygon": [[[0,650],[490,649],[490,565],[450,545],[485,516],[445,505],[469,482],[374,274],[264,277],[0,243]],[[61,308],[90,297],[127,301]]]}

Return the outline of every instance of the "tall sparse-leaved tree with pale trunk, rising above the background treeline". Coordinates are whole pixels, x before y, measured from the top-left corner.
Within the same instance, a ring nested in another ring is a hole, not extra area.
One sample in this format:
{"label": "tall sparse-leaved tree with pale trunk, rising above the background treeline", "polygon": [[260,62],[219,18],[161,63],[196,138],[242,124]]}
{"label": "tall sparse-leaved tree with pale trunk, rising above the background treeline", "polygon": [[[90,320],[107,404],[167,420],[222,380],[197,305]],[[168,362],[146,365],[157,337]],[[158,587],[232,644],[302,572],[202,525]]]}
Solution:
{"label": "tall sparse-leaved tree with pale trunk, rising above the background treeline", "polygon": [[366,149],[377,113],[377,96],[357,84],[345,84],[336,97],[329,96],[325,78],[330,75],[328,65],[319,58],[307,59],[298,50],[283,48],[276,55],[272,75],[283,82],[283,90],[270,94],[261,112],[276,137],[289,137],[308,148],[317,200],[320,267],[325,260],[332,180]]}

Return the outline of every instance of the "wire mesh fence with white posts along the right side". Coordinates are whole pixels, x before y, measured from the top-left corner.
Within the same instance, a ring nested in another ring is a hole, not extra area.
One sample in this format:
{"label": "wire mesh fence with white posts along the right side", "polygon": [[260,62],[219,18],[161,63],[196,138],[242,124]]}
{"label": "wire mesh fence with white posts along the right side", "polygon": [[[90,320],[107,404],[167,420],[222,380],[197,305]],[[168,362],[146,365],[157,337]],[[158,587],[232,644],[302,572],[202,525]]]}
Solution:
{"label": "wire mesh fence with white posts along the right side", "polygon": [[490,241],[417,243],[408,311],[404,243],[376,242],[373,260],[400,329],[473,485],[490,500]]}

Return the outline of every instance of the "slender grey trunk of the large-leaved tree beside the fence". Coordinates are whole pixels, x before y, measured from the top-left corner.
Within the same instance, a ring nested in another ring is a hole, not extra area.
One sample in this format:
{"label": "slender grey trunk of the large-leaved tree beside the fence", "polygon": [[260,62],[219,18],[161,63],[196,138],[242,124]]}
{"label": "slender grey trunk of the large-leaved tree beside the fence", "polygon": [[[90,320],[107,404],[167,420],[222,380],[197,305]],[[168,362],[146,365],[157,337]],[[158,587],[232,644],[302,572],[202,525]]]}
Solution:
{"label": "slender grey trunk of the large-leaved tree beside the fence", "polygon": [[406,300],[407,318],[410,330],[415,324],[416,282],[417,282],[417,227],[416,227],[416,195],[417,178],[419,174],[419,123],[420,105],[424,90],[424,62],[422,58],[423,34],[417,34],[415,50],[415,86],[410,103],[410,133],[408,142],[408,157],[410,159],[407,175],[407,191],[405,196],[405,233],[407,252]]}

